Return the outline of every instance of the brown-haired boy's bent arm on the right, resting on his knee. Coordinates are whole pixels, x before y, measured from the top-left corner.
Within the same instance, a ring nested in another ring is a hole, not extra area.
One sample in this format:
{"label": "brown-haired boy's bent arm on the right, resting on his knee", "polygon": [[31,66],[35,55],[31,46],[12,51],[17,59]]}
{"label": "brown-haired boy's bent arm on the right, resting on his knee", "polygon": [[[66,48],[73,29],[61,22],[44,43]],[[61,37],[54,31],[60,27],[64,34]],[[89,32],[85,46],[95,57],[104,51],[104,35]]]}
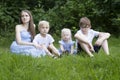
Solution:
{"label": "brown-haired boy's bent arm on the right, resting on his knee", "polygon": [[96,41],[96,45],[101,45],[104,40],[108,39],[110,37],[110,33],[100,32],[99,37]]}

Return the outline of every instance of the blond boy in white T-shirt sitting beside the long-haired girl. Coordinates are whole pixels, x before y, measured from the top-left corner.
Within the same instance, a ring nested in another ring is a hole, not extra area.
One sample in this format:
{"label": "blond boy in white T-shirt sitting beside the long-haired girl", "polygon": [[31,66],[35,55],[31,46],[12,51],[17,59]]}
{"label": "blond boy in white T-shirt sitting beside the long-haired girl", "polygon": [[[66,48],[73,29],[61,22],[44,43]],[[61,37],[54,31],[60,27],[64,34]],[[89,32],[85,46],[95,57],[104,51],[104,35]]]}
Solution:
{"label": "blond boy in white T-shirt sitting beside the long-haired girl", "polygon": [[40,33],[35,36],[33,43],[39,44],[40,49],[43,49],[49,56],[58,57],[60,53],[53,45],[54,39],[48,34],[49,29],[49,22],[40,21],[38,24]]}

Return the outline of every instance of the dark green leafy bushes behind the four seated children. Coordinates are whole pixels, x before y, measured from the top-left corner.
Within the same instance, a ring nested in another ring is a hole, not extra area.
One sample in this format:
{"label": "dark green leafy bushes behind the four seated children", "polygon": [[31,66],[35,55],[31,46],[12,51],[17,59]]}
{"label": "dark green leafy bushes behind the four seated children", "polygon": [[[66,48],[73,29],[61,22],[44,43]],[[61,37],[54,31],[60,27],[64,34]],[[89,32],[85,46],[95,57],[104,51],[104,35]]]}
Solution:
{"label": "dark green leafy bushes behind the four seated children", "polygon": [[40,20],[50,22],[50,33],[53,35],[60,35],[64,27],[70,28],[74,35],[79,29],[79,19],[87,16],[93,29],[119,37],[119,7],[119,0],[2,0],[0,35],[7,37],[6,34],[13,34],[15,25],[19,24],[20,11],[28,9],[33,14],[36,26]]}

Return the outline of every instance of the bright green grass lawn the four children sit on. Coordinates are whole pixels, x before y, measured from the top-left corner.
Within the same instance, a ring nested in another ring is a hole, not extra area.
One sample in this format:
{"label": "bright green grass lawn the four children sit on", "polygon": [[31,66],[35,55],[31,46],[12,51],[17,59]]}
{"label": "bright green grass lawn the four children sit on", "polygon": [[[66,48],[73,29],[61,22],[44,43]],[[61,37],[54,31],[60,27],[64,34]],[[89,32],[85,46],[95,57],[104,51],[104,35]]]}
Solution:
{"label": "bright green grass lawn the four children sit on", "polygon": [[84,53],[59,59],[33,58],[12,54],[9,45],[0,43],[0,80],[120,80],[120,43],[116,38],[109,39],[110,56],[101,50],[94,58]]}

